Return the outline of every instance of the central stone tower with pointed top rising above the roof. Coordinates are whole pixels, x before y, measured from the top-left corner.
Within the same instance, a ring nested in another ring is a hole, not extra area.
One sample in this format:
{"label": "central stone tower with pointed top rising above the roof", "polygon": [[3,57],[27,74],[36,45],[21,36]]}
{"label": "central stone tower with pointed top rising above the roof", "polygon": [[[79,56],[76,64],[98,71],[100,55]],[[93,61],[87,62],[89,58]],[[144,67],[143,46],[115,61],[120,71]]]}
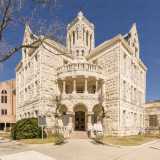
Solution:
{"label": "central stone tower with pointed top rising above the roof", "polygon": [[67,25],[67,48],[75,58],[84,57],[95,48],[94,25],[80,11],[78,16]]}

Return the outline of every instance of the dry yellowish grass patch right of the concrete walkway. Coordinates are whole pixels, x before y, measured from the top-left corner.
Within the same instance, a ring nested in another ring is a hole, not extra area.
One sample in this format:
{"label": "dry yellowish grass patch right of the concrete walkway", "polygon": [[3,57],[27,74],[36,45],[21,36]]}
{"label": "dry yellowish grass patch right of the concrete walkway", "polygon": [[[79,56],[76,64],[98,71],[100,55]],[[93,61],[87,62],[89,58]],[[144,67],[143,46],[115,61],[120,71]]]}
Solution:
{"label": "dry yellowish grass patch right of the concrete walkway", "polygon": [[102,141],[121,146],[138,146],[160,139],[160,135],[137,135],[128,137],[104,137]]}

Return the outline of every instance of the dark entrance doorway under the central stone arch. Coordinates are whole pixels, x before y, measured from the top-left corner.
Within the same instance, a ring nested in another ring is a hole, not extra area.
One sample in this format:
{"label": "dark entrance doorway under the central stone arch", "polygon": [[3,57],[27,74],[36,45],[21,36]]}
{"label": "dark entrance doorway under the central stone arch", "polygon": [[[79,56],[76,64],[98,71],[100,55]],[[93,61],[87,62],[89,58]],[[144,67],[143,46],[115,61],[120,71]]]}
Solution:
{"label": "dark entrance doorway under the central stone arch", "polygon": [[75,130],[76,131],[85,130],[85,112],[82,111],[75,112]]}

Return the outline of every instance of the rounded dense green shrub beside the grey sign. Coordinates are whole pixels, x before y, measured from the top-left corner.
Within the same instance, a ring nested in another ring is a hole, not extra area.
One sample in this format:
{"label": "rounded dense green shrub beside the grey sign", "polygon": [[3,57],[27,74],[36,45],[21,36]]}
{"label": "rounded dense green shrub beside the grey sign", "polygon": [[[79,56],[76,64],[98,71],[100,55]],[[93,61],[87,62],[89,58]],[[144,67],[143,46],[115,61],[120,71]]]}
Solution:
{"label": "rounded dense green shrub beside the grey sign", "polygon": [[38,126],[38,118],[34,117],[21,119],[11,128],[12,139],[41,138],[41,135],[42,128]]}

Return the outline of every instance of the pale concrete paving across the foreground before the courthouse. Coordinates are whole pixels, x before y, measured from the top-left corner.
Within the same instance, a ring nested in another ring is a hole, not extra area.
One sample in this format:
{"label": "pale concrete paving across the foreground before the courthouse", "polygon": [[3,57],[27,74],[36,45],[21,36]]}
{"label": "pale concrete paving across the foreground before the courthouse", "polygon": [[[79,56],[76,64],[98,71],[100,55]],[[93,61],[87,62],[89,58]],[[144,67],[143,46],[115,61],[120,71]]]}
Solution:
{"label": "pale concrete paving across the foreground before the courthouse", "polygon": [[40,160],[36,157],[38,154],[41,154],[40,157],[49,156],[45,160],[51,160],[51,157],[57,160],[160,160],[160,141],[141,148],[115,148],[97,144],[90,139],[70,139],[66,144],[58,146],[53,143],[22,145],[0,140],[0,159],[13,160],[7,158],[12,158],[11,154],[14,154],[16,160],[24,160],[24,153],[35,155],[34,160]]}

